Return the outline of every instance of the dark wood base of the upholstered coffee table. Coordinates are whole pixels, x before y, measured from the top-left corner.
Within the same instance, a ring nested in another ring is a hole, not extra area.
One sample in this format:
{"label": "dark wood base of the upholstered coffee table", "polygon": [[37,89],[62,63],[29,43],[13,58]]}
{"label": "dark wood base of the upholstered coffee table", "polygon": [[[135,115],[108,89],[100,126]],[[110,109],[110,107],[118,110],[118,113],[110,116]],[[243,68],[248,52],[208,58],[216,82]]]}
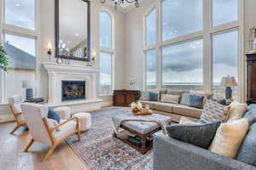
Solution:
{"label": "dark wood base of the upholstered coffee table", "polygon": [[[125,129],[124,131],[120,132],[119,134],[116,134],[115,132],[113,132],[113,138],[117,138],[120,139],[121,141],[123,141],[125,144],[129,144],[132,148],[134,148],[135,150],[138,150],[139,152],[141,152],[143,155],[146,154],[148,152],[148,150],[152,150],[153,148],[153,134],[160,131],[161,127],[157,127],[154,128],[154,130],[150,131],[149,133],[138,133],[135,130],[132,130],[129,127],[125,127],[124,125],[120,125],[121,128]],[[129,137],[128,137],[128,133],[134,134],[138,137],[140,137],[141,140],[141,145],[137,146],[136,144],[132,144]]]}

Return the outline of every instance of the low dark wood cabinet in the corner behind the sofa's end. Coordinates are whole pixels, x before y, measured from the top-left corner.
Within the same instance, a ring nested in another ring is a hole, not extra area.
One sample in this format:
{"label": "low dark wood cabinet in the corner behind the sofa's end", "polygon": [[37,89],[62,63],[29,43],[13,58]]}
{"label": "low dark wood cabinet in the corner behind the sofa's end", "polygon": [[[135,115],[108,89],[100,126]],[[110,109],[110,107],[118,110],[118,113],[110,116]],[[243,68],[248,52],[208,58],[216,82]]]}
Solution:
{"label": "low dark wood cabinet in the corner behind the sofa's end", "polygon": [[141,92],[138,90],[114,90],[113,105],[128,106],[140,99]]}

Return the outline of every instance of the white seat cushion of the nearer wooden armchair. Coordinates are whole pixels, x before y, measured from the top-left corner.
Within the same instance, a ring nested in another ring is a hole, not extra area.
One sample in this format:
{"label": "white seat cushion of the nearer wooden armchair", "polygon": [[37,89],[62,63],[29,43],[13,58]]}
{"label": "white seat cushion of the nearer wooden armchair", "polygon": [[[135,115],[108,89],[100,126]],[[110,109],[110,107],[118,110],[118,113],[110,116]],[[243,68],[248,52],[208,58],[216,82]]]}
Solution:
{"label": "white seat cushion of the nearer wooden armchair", "polygon": [[[61,122],[64,122],[64,120],[61,120]],[[77,127],[76,121],[70,121],[62,125],[61,127],[59,127],[60,130],[56,131],[54,134],[55,140],[62,139],[63,137],[69,135],[70,133],[73,133],[76,127]]]}

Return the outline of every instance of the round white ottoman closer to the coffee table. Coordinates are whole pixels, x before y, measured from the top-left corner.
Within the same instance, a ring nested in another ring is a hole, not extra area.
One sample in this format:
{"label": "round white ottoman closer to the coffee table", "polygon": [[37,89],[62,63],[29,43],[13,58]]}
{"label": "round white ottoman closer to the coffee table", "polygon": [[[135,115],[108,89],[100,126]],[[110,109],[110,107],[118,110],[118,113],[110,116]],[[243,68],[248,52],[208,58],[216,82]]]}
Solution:
{"label": "round white ottoman closer to the coffee table", "polygon": [[74,114],[73,117],[79,118],[80,132],[83,133],[84,131],[90,129],[90,126],[91,126],[90,113],[77,113],[77,114]]}

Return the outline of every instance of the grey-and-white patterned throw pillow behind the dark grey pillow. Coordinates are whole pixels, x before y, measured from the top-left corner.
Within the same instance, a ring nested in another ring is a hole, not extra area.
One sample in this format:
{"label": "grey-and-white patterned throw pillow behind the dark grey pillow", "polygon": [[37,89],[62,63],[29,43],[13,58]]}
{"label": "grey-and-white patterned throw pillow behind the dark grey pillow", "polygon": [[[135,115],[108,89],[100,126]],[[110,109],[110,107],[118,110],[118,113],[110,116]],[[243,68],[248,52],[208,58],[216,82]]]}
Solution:
{"label": "grey-and-white patterned throw pillow behind the dark grey pillow", "polygon": [[220,105],[218,102],[212,101],[211,99],[207,99],[206,105],[204,107],[204,110],[202,111],[199,122],[224,122],[228,114],[228,111],[228,106]]}

